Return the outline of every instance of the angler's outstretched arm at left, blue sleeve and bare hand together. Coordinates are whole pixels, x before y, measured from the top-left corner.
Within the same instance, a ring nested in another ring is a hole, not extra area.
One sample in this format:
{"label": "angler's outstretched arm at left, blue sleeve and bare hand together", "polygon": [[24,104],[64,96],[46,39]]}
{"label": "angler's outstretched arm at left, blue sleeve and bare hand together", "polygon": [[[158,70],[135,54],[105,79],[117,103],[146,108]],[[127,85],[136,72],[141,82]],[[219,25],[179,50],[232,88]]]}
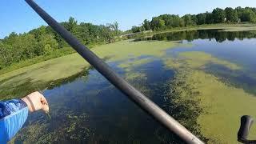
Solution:
{"label": "angler's outstretched arm at left, blue sleeve and bare hand together", "polygon": [[49,111],[46,98],[38,91],[22,99],[0,101],[0,144],[8,142],[22,128],[29,110]]}

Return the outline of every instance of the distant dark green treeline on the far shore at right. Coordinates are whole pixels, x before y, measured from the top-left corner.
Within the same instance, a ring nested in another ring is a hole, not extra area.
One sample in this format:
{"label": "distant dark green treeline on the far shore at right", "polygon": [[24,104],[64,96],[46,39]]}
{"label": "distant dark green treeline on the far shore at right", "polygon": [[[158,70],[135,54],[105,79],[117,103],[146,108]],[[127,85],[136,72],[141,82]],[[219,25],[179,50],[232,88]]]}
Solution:
{"label": "distant dark green treeline on the far shore at right", "polygon": [[137,33],[145,30],[166,30],[176,27],[197,26],[214,23],[256,22],[256,8],[226,7],[225,10],[216,8],[211,13],[186,14],[182,17],[175,14],[162,14],[153,17],[151,21],[145,19],[142,26],[133,26],[130,32]]}

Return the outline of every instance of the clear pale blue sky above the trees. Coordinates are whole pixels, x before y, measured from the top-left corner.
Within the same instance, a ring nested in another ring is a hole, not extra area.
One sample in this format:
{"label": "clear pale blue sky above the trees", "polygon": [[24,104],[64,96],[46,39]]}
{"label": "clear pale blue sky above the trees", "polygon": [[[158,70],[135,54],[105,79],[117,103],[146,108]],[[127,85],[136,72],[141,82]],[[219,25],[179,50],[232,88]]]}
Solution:
{"label": "clear pale blue sky above the trees", "polygon": [[[78,22],[118,22],[121,30],[138,26],[160,14],[198,14],[216,7],[256,7],[255,0],[35,0],[58,22],[74,17]],[[28,32],[46,26],[24,0],[0,1],[0,38],[11,32]]]}

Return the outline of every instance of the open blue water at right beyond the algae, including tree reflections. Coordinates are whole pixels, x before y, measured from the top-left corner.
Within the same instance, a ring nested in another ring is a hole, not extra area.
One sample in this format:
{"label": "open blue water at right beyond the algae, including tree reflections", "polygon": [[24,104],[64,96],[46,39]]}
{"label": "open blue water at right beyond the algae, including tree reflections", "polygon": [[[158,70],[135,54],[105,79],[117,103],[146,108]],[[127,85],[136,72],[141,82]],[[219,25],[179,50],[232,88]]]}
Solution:
{"label": "open blue water at right beyond the algae, including tree reflections", "polygon": [[[242,88],[246,92],[256,94],[256,31],[223,31],[223,30],[187,30],[154,34],[134,41],[180,41],[190,43],[190,49],[177,47],[167,50],[166,53],[177,58],[178,54],[186,51],[203,51],[216,58],[237,63],[242,70],[229,70],[225,66],[209,64],[205,71],[222,78],[232,86]],[[185,41],[184,41],[185,40]]]}

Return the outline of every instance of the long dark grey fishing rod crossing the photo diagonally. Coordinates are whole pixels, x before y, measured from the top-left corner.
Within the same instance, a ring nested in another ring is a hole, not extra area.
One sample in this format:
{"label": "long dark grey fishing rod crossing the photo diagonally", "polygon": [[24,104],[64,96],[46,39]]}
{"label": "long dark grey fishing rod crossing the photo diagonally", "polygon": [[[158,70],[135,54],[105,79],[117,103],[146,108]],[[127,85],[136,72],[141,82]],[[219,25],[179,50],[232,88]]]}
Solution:
{"label": "long dark grey fishing rod crossing the photo diagonally", "polygon": [[44,19],[50,27],[52,27],[67,43],[70,44],[84,58],[91,66],[94,66],[99,73],[101,73],[107,80],[109,80],[118,90],[121,90],[123,94],[126,94],[133,102],[135,102],[142,110],[145,110],[148,114],[153,116],[158,122],[161,122],[163,126],[174,134],[177,134],[179,138],[187,143],[204,143],[149,98],[146,98],[144,94],[136,90],[122,77],[114,72],[103,62],[101,58],[98,58],[96,54],[90,51],[86,46],[82,45],[68,30],[61,26],[54,18],[50,17],[45,10],[42,10],[33,0],[25,0],[39,16]]}

